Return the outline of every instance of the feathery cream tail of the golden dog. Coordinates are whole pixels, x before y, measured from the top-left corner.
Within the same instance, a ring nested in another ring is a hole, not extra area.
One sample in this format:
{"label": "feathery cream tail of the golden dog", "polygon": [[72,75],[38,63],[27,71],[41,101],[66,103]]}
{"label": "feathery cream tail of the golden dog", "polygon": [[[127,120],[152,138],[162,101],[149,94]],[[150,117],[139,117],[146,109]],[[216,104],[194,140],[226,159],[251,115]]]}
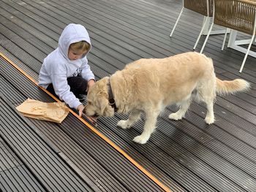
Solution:
{"label": "feathery cream tail of the golden dog", "polygon": [[247,91],[250,88],[249,82],[246,80],[236,79],[236,80],[219,80],[217,79],[217,94],[226,95],[228,93],[236,93],[239,91]]}

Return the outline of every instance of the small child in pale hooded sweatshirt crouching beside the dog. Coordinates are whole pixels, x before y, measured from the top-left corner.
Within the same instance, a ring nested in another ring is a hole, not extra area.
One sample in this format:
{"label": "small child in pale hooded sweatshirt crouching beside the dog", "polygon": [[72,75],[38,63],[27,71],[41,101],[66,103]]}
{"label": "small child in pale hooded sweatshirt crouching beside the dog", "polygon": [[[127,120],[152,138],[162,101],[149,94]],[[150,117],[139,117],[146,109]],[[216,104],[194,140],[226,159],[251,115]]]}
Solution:
{"label": "small child in pale hooded sweatshirt crouching beside the dog", "polygon": [[86,28],[71,23],[62,31],[58,48],[44,59],[39,72],[39,85],[77,109],[80,117],[84,106],[78,98],[95,82],[86,58],[90,49],[91,40]]}

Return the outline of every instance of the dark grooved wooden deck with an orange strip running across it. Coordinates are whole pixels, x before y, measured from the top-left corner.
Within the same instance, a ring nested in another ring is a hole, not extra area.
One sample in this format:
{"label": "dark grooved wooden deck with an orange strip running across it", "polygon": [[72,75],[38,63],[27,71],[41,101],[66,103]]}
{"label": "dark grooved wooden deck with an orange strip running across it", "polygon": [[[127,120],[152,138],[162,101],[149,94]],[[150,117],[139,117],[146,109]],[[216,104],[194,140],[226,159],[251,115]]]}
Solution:
{"label": "dark grooved wooden deck with an orange strip running across it", "polygon": [[193,103],[179,121],[167,118],[177,110],[170,106],[139,145],[132,139],[143,118],[129,130],[116,127],[127,115],[99,118],[95,131],[71,112],[58,124],[15,110],[27,98],[54,101],[37,79],[67,24],[89,31],[89,64],[100,79],[139,58],[192,51],[200,15],[185,10],[169,37],[181,6],[181,0],[0,1],[0,191],[256,191],[256,59],[249,56],[239,74],[244,53],[221,51],[223,35],[211,36],[204,53],[217,77],[243,78],[252,89],[218,96],[210,126],[204,104]]}

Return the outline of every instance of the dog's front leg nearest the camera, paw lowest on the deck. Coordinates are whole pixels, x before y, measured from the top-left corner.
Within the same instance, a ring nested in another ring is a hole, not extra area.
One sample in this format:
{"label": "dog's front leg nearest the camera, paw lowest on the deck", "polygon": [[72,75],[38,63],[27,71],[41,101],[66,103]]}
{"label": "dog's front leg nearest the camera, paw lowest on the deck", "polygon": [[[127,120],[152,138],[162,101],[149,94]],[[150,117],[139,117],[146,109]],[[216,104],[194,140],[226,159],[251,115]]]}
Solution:
{"label": "dog's front leg nearest the camera, paw lowest on the deck", "polygon": [[138,142],[140,144],[145,144],[149,137],[151,136],[152,132],[154,131],[157,123],[157,116],[159,115],[160,111],[151,111],[148,110],[146,112],[146,121],[143,128],[143,133],[133,139],[134,142]]}

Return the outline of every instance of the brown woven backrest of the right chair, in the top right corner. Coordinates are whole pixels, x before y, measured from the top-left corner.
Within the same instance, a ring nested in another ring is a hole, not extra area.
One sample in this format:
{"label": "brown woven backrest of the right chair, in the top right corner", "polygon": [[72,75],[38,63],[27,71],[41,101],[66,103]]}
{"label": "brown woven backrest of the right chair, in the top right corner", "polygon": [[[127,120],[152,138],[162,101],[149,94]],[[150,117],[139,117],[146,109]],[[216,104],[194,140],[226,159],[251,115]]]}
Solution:
{"label": "brown woven backrest of the right chair, in the top right corner", "polygon": [[255,29],[255,0],[214,0],[214,23],[246,34]]}

